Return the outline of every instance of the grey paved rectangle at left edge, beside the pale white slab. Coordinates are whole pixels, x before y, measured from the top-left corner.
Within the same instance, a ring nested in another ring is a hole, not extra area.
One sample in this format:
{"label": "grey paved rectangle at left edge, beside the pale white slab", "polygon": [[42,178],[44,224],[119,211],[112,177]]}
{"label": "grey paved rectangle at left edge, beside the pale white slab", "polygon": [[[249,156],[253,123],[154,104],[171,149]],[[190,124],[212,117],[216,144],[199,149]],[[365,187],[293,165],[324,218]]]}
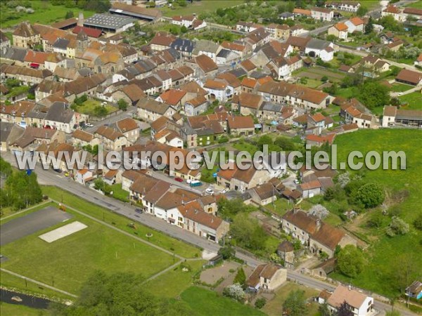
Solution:
{"label": "grey paved rectangle at left edge, beside the pale white slab", "polygon": [[20,218],[9,220],[0,226],[0,246],[32,235],[34,232],[44,230],[72,217],[70,213],[48,206]]}

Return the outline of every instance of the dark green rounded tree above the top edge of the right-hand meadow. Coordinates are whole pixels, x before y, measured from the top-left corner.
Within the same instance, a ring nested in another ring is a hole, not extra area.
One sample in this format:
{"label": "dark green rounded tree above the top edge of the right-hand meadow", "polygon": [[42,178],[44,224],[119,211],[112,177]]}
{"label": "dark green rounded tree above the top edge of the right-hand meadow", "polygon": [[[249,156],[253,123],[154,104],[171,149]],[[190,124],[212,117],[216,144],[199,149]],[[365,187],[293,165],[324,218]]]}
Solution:
{"label": "dark green rounded tree above the top edge of the right-hand meadow", "polygon": [[362,86],[357,98],[369,109],[383,107],[390,103],[390,91],[388,86],[376,81],[369,81]]}

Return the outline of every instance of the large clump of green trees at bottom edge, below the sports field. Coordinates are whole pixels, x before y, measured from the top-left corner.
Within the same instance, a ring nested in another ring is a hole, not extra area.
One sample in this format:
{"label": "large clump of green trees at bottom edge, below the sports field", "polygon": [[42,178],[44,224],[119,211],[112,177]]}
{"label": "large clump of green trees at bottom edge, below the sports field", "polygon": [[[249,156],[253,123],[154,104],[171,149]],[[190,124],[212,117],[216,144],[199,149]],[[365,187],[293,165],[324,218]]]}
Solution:
{"label": "large clump of green trees at bottom edge, below the sports field", "polygon": [[[170,302],[148,293],[145,279],[129,272],[106,275],[94,272],[85,282],[75,303],[50,305],[52,315],[188,315],[184,303]],[[173,305],[176,303],[176,305]]]}

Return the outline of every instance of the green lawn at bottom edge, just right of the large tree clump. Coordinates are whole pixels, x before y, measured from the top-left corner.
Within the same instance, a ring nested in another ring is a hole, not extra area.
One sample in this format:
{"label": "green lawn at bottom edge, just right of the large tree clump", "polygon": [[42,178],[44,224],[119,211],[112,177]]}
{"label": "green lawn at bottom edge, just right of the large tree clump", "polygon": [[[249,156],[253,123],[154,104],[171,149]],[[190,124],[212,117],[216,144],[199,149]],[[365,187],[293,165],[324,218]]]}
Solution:
{"label": "green lawn at bottom edge, just right of the large tree clump", "polygon": [[192,308],[193,315],[196,316],[223,316],[228,314],[231,316],[264,315],[260,310],[237,303],[230,298],[219,296],[215,291],[201,287],[189,287],[181,294],[181,299]]}

